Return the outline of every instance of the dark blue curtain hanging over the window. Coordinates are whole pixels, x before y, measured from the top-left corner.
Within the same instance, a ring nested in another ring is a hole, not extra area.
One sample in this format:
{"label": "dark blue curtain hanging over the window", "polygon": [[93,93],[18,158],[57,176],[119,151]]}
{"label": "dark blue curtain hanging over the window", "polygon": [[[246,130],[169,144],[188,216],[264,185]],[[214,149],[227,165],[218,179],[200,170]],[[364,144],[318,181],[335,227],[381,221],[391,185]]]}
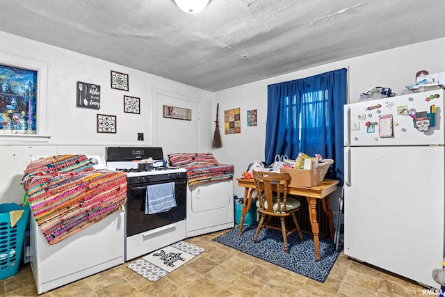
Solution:
{"label": "dark blue curtain hanging over the window", "polygon": [[334,159],[326,177],[343,184],[343,105],[346,68],[268,86],[265,161],[298,152]]}

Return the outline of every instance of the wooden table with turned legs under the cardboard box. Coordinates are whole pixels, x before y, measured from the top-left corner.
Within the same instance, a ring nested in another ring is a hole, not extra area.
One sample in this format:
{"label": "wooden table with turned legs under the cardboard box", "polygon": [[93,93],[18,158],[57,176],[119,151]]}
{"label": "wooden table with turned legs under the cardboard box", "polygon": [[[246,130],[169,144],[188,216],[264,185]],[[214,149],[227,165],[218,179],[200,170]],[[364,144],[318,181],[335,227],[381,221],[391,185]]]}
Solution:
{"label": "wooden table with turned legs under the cardboard box", "polygon": [[[241,222],[239,226],[239,234],[241,235],[243,234],[245,214],[247,214],[248,210],[250,209],[250,204],[252,204],[252,193],[255,190],[255,182],[254,179],[237,178],[236,180],[238,181],[238,186],[243,186],[245,188]],[[309,220],[311,221],[312,234],[314,236],[315,258],[317,261],[320,261],[320,239],[318,237],[320,230],[317,222],[316,204],[318,200],[321,200],[321,203],[323,204],[323,211],[325,211],[325,214],[329,219],[330,238],[333,239],[334,223],[332,221],[333,215],[329,195],[337,190],[337,184],[339,184],[338,180],[330,179],[321,182],[318,186],[312,187],[289,185],[289,194],[306,197],[307,204],[309,204]]]}

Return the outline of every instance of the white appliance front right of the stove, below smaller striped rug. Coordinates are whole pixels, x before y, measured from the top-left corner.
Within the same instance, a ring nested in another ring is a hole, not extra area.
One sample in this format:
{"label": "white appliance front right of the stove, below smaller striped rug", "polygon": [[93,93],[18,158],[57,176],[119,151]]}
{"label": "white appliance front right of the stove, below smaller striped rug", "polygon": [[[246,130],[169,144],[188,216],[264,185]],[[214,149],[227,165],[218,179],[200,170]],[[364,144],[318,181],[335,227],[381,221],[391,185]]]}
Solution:
{"label": "white appliance front right of the stove, below smaller striped rug", "polygon": [[187,238],[234,227],[233,180],[188,186]]}

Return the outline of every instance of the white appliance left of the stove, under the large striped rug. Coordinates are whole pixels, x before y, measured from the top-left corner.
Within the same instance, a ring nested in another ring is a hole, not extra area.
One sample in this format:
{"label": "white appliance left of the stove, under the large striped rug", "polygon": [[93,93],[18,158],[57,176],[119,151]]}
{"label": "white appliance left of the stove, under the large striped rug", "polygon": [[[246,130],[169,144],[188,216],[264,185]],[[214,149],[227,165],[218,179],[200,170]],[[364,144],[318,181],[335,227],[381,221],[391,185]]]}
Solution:
{"label": "white appliance left of the stove, under the large striped rug", "polygon": [[[95,169],[104,169],[103,156]],[[39,157],[33,157],[33,160]],[[38,294],[124,263],[124,213],[120,210],[50,246],[30,218],[31,268]]]}

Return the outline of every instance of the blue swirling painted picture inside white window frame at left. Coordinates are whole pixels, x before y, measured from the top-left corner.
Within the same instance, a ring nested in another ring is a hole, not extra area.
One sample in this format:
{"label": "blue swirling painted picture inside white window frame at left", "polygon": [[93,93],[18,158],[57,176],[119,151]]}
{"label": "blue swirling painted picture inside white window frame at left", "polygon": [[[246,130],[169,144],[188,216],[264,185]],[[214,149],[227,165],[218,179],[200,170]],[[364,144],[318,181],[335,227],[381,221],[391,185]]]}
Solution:
{"label": "blue swirling painted picture inside white window frame at left", "polygon": [[3,134],[36,134],[36,70],[0,65],[0,122]]}

